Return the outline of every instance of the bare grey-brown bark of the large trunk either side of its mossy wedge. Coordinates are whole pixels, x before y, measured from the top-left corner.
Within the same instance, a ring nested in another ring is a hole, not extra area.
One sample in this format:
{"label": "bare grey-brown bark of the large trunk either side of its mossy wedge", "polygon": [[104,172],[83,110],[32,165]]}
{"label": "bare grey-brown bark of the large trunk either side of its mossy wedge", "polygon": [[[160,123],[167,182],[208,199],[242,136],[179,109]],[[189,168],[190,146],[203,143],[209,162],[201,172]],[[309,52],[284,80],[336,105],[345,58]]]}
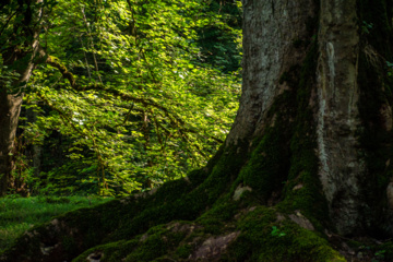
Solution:
{"label": "bare grey-brown bark of the large trunk either side of its mossy wedge", "polygon": [[[385,17],[385,26],[391,28],[392,17],[389,9],[392,9],[392,4],[381,2],[376,5],[373,9],[388,10],[386,15],[382,14],[382,17]],[[388,215],[390,212],[382,211],[391,207],[380,205],[385,196],[380,196],[379,200],[369,196],[373,194],[370,191],[376,190],[376,187],[370,187],[374,184],[372,179],[378,177],[370,174],[367,155],[377,154],[378,148],[370,152],[360,141],[365,139],[360,138],[360,133],[364,132],[361,126],[369,123],[364,121],[358,108],[361,107],[362,92],[358,84],[361,68],[359,57],[368,56],[368,60],[374,61],[371,68],[374,67],[377,74],[381,74],[381,71],[385,74],[380,64],[391,59],[386,57],[388,53],[391,55],[391,47],[386,46],[388,50],[382,51],[370,46],[369,36],[362,34],[360,27],[366,22],[361,21],[361,16],[365,16],[362,12],[372,19],[372,10],[360,10],[360,7],[372,9],[367,1],[356,0],[299,0],[290,3],[245,1],[243,93],[237,119],[226,141],[227,145],[241,140],[250,143],[255,141],[255,138],[263,136],[265,130],[274,124],[275,119],[270,116],[272,106],[285,90],[294,90],[293,86],[288,86],[290,81],[287,81],[287,75],[296,72],[296,67],[301,67],[309,51],[310,45],[305,48],[301,44],[309,41],[312,35],[318,36],[318,62],[308,102],[309,108],[313,111],[313,119],[308,124],[315,126],[318,176],[327,202],[330,218],[337,231],[343,235],[369,228],[377,219],[372,217],[372,213],[385,213],[384,216],[391,216]],[[318,14],[319,20],[314,20]],[[318,33],[314,27],[310,35],[307,28],[310,29],[312,22],[319,22],[319,27]],[[384,34],[378,37],[389,39],[392,31],[388,29]],[[380,85],[376,86],[380,91],[384,88],[383,78],[385,76],[379,76],[380,80],[374,83]],[[294,82],[294,79],[291,81]],[[373,117],[382,119],[382,123],[374,121],[376,127],[372,129],[379,130],[378,132],[390,132],[392,110],[391,103],[388,102],[389,95],[383,92],[379,95],[384,98],[376,105],[378,109]],[[382,156],[382,159],[390,160],[388,155]],[[384,187],[384,192],[392,194],[389,189],[391,186],[388,187],[385,183]],[[380,195],[377,192],[374,194]],[[376,204],[379,211],[376,210]]]}

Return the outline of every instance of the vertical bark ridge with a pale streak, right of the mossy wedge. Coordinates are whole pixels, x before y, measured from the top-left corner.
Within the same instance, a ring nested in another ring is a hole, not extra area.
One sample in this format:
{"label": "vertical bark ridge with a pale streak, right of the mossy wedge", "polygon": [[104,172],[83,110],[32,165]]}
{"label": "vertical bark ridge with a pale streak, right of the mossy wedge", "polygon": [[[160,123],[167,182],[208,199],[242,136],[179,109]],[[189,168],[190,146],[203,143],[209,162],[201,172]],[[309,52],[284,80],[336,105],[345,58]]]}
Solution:
{"label": "vertical bark ridge with a pale streak, right of the mossy wedge", "polygon": [[[331,218],[342,234],[359,226],[359,28],[356,0],[321,1],[318,60],[320,178]],[[345,32],[345,34],[343,34]]]}

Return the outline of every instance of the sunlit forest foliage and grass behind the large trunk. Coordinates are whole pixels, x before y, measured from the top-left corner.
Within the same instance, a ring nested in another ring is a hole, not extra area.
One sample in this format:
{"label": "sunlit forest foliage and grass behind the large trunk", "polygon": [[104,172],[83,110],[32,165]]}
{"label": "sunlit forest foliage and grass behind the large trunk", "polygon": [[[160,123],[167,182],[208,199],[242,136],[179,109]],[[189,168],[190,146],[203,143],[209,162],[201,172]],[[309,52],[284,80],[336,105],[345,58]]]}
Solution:
{"label": "sunlit forest foliage and grass behind the large trunk", "polygon": [[[39,41],[56,64],[39,63],[28,83],[13,86],[19,75],[0,57],[2,85],[9,94],[24,91],[0,200],[0,249],[52,215],[204,166],[229,132],[241,87],[240,1],[32,7],[43,8]],[[11,26],[23,19],[17,8],[1,5],[2,50],[12,34],[24,40]]]}

